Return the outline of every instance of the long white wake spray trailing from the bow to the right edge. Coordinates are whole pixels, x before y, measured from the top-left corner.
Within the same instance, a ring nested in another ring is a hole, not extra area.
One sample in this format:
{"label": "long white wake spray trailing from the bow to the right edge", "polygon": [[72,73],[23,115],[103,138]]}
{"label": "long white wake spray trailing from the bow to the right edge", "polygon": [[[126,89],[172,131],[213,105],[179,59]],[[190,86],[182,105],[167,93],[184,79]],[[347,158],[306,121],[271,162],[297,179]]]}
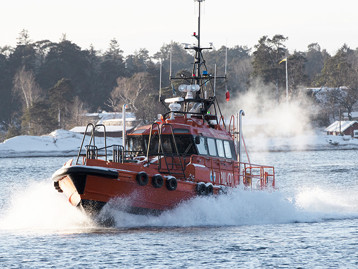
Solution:
{"label": "long white wake spray trailing from the bow to the right edge", "polygon": [[355,200],[358,204],[358,197],[343,197],[321,189],[287,195],[236,188],[227,195],[196,197],[156,217],[119,212],[110,203],[104,212],[114,216],[116,227],[260,225],[358,218],[358,206],[351,203]]}

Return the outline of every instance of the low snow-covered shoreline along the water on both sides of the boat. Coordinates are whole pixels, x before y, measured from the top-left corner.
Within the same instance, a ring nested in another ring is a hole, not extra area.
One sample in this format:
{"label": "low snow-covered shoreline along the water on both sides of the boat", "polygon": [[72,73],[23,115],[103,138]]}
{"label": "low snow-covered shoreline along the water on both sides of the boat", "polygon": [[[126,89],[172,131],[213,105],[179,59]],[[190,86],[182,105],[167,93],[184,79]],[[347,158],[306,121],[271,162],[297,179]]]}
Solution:
{"label": "low snow-covered shoreline along the water on both sides of the boat", "polygon": [[[56,130],[43,136],[16,136],[0,143],[0,157],[76,156],[83,135]],[[103,138],[96,138],[96,143]],[[107,137],[107,145],[122,144],[122,138]],[[245,138],[249,151],[358,149],[358,139],[333,135]]]}

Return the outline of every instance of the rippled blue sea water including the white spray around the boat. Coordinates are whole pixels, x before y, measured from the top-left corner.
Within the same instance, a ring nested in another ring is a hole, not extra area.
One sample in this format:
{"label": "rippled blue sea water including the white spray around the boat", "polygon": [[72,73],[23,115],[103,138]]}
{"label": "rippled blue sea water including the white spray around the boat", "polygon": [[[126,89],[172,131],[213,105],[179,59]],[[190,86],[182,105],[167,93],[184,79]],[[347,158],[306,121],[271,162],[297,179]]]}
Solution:
{"label": "rippled blue sea water including the white spray around the boat", "polygon": [[357,268],[358,152],[259,152],[277,191],[234,189],[100,227],[53,188],[69,158],[0,159],[1,268]]}

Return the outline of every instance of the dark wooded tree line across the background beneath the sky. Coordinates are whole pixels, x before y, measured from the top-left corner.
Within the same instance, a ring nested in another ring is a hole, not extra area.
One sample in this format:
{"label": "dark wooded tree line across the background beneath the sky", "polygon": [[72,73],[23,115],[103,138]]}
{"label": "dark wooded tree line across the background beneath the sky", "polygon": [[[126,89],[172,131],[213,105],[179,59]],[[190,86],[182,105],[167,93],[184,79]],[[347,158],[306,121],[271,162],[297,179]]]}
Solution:
{"label": "dark wooded tree line across the background beneath the sky", "polygon": [[[205,54],[208,71],[225,72],[227,53],[228,89],[233,97],[250,90],[258,79],[267,85],[269,95],[278,102],[286,87],[287,58],[289,98],[302,89],[317,87],[325,91],[317,119],[325,125],[339,109],[350,113],[358,101],[358,50],[344,44],[331,56],[319,44],[312,43],[304,52],[289,54],[285,41],[277,34],[262,36],[254,48],[221,47]],[[2,139],[18,134],[41,135],[57,128],[83,125],[82,115],[99,110],[121,111],[124,103],[131,112],[151,122],[163,112],[162,96],[170,97],[170,51],[172,75],[191,72],[193,55],[175,42],[164,44],[153,56],[145,48],[124,56],[117,39],[110,40],[106,51],[93,46],[81,49],[62,35],[59,42],[33,42],[27,30],[19,33],[15,48],[0,47],[0,122]],[[162,66],[162,81],[160,72]],[[177,87],[177,85],[173,85]],[[217,96],[224,85],[217,84]],[[318,91],[306,91],[313,98]]]}

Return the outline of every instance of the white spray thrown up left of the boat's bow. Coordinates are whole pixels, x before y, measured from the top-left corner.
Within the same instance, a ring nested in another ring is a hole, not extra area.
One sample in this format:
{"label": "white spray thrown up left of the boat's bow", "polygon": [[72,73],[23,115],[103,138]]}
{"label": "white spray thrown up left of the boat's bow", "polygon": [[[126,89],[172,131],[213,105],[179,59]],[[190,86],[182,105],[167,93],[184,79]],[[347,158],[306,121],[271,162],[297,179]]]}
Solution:
{"label": "white spray thrown up left of the boat's bow", "polygon": [[29,182],[27,188],[9,196],[9,206],[0,214],[0,230],[66,231],[95,225],[57,193],[49,181]]}

